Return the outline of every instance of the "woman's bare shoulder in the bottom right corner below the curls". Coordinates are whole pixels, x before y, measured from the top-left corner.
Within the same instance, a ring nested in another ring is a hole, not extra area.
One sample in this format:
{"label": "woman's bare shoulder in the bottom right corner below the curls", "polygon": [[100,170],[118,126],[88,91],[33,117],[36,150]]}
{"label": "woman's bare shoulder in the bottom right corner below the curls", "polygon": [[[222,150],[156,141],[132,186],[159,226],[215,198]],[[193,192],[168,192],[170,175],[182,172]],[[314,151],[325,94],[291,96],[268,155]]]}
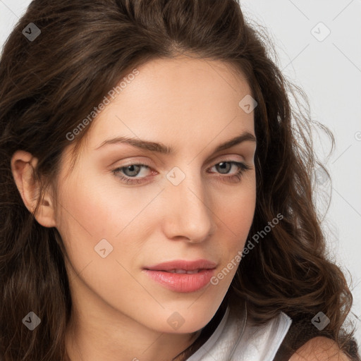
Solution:
{"label": "woman's bare shoulder in the bottom right corner below the curls", "polygon": [[335,341],[326,337],[314,337],[302,345],[289,361],[351,361]]}

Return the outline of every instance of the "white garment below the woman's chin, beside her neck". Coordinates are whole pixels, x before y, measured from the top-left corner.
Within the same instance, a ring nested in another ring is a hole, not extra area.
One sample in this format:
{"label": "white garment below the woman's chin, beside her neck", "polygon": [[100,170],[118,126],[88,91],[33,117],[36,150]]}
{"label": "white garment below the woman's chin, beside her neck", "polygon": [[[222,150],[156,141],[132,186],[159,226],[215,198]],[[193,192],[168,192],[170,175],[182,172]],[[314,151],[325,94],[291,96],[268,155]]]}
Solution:
{"label": "white garment below the woman's chin, beside her neck", "polygon": [[281,312],[262,326],[244,326],[244,319],[229,314],[227,308],[214,333],[186,361],[272,361],[292,323]]}

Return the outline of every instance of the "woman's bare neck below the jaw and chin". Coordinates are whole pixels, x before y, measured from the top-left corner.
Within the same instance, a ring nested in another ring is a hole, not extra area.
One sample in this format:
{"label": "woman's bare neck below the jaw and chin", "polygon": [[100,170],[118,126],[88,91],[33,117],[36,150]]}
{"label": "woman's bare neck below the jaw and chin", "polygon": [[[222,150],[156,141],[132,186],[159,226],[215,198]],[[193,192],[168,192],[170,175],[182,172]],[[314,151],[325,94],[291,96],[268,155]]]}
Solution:
{"label": "woman's bare neck below the jaw and chin", "polygon": [[115,327],[102,324],[97,319],[93,321],[71,320],[66,333],[67,361],[184,361],[183,356],[176,356],[188,348],[201,332],[164,334],[144,326],[123,324]]}

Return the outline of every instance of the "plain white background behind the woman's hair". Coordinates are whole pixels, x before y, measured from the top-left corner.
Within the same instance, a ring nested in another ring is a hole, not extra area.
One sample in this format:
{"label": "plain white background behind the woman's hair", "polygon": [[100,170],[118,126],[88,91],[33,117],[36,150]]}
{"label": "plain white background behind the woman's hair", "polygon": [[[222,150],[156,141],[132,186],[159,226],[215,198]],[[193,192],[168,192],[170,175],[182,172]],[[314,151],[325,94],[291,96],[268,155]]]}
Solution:
{"label": "plain white background behind the woman's hair", "polygon": [[[1,46],[28,4],[0,0]],[[305,90],[312,118],[334,133],[336,148],[327,163],[332,184],[322,184],[326,191],[332,185],[324,229],[330,257],[336,257],[346,272],[355,299],[353,312],[360,319],[361,0],[240,0],[240,4],[247,19],[267,27],[279,67]],[[328,143],[319,140],[315,145],[320,159],[326,160]]]}

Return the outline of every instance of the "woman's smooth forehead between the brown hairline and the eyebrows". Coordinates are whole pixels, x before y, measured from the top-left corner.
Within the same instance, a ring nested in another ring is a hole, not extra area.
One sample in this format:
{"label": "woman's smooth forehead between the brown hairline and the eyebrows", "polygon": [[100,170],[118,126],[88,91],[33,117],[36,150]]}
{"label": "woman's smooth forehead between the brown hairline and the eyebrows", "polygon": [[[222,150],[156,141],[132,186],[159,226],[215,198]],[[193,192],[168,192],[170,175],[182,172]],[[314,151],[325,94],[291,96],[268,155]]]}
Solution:
{"label": "woman's smooth forehead between the brown hairline and the eyebrows", "polygon": [[207,124],[231,121],[231,116],[253,118],[238,105],[251,94],[250,86],[243,73],[228,63],[188,57],[155,59],[137,71],[132,80],[122,82],[121,92],[97,116],[92,135],[108,135],[106,128],[118,129],[119,123],[149,131],[154,127],[204,130]]}

